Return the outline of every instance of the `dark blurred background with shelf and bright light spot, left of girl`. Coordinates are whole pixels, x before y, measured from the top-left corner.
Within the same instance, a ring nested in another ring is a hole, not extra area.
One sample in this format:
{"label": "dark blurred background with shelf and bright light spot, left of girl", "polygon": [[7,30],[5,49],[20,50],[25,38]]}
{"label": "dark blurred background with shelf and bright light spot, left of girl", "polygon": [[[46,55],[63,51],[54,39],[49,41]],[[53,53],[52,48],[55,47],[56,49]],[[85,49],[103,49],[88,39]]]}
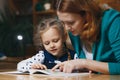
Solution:
{"label": "dark blurred background with shelf and bright light spot, left of girl", "polygon": [[54,0],[0,0],[0,53],[8,57],[34,55],[40,48],[36,26],[55,15]]}

